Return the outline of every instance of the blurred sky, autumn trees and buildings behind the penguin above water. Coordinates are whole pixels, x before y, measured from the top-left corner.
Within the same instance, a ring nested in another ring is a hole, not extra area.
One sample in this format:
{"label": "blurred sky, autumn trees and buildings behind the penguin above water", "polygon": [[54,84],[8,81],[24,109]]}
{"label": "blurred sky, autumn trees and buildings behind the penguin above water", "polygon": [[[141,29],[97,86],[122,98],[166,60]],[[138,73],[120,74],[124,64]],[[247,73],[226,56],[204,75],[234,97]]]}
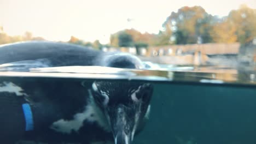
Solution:
{"label": "blurred sky, autumn trees and buildings behind the penguin above water", "polygon": [[256,1],[0,0],[0,44],[27,40],[129,52],[155,69],[254,67]]}

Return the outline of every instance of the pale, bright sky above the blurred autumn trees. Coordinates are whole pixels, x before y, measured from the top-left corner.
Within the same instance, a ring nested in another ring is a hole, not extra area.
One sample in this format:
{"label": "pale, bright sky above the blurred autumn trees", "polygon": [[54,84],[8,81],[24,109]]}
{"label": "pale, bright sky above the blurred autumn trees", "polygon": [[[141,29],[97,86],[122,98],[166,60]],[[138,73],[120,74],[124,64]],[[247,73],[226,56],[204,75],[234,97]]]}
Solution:
{"label": "pale, bright sky above the blurred autumn trees", "polygon": [[241,4],[256,9],[255,0],[0,0],[0,26],[8,35],[29,31],[53,41],[73,35],[106,44],[110,34],[125,28],[158,33],[166,17],[183,6],[200,5],[209,14],[226,16]]}

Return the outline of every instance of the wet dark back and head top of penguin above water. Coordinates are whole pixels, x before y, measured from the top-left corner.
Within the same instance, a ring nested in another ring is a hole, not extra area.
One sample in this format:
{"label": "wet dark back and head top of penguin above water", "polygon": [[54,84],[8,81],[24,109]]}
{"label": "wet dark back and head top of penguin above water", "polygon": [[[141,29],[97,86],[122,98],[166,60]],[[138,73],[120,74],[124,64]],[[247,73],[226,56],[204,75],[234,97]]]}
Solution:
{"label": "wet dark back and head top of penguin above water", "polygon": [[101,52],[84,46],[31,41],[0,46],[0,64],[31,65],[34,67],[61,67],[98,65],[115,68],[142,68],[133,55],[120,52]]}

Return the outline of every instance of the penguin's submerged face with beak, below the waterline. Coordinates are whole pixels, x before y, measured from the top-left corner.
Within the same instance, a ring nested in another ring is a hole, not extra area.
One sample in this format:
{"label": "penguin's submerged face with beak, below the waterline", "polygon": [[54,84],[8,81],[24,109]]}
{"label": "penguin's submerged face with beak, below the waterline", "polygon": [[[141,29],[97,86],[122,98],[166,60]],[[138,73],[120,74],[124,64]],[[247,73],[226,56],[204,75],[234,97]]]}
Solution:
{"label": "penguin's submerged face with beak, below the waterline", "polygon": [[129,144],[153,94],[149,83],[95,81],[92,95],[112,128],[115,144]]}

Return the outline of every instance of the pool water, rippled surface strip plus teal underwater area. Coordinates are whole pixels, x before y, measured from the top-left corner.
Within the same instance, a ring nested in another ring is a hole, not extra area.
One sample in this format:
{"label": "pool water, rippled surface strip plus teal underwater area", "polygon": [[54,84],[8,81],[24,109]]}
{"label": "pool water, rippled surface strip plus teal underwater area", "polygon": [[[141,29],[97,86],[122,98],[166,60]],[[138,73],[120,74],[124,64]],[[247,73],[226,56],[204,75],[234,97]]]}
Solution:
{"label": "pool water, rippled surface strip plus teal underwater area", "polygon": [[[55,85],[60,83],[59,88],[66,91],[68,85],[65,83],[73,83],[79,88],[78,83],[86,85],[86,82],[95,80],[152,83],[154,93],[150,103],[149,119],[132,143],[256,143],[254,72],[207,70],[207,72],[204,68],[193,71],[191,69],[157,71],[115,68],[103,70],[102,67],[63,67],[18,72],[10,69],[0,72],[0,83],[13,82],[16,85],[29,83],[30,85],[22,89],[24,92],[30,89],[34,94],[42,92],[40,89],[42,85],[47,85],[48,91],[56,91]],[[75,95],[76,92],[79,90],[73,89],[71,94]],[[15,109],[8,109],[10,106],[8,103],[15,105],[15,100],[10,102],[4,99],[4,94],[7,95],[6,93],[0,95],[0,101],[2,101],[0,116],[3,117],[4,113],[5,119],[6,117],[10,119],[1,123],[5,123],[6,129],[8,129],[8,123],[11,123],[13,128],[20,127],[19,124],[24,121],[18,122],[12,117],[22,113],[15,113]],[[8,110],[11,114],[8,114],[10,113]],[[9,133],[19,133],[19,131],[10,131]]]}

